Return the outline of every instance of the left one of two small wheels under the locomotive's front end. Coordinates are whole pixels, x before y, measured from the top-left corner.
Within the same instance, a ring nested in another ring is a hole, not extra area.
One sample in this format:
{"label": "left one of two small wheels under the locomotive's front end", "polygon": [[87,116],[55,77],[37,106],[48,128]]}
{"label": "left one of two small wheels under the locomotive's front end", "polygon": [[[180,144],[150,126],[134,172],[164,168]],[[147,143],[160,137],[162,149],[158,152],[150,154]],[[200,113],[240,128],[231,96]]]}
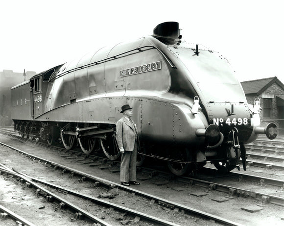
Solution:
{"label": "left one of two small wheels under the locomotive's front end", "polygon": [[[187,161],[189,160],[189,150],[187,148],[176,151],[167,150],[167,158]],[[167,161],[167,167],[174,175],[182,176],[188,171],[189,163]]]}

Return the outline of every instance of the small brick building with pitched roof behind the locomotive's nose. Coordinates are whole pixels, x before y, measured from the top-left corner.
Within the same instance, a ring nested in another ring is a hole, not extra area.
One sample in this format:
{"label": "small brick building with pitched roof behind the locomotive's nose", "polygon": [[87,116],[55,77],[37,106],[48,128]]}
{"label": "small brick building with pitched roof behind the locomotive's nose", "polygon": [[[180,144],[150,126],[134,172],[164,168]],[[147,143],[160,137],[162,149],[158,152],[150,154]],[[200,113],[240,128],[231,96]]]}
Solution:
{"label": "small brick building with pitched roof behind the locomotive's nose", "polygon": [[278,134],[284,135],[284,84],[277,77],[269,77],[243,81],[241,85],[249,104],[260,99],[261,126],[275,123]]}

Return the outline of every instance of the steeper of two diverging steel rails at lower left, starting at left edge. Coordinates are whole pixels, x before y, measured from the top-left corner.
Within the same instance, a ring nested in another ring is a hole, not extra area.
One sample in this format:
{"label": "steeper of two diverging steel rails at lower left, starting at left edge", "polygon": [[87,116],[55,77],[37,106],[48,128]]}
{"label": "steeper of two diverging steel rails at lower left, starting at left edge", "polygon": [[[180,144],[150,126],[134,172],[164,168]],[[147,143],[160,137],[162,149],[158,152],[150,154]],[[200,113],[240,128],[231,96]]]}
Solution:
{"label": "steeper of two diverging steel rails at lower left, starting at left edge", "polygon": [[62,199],[61,197],[57,196],[56,194],[48,191],[47,189],[39,186],[38,184],[32,182],[30,179],[28,179],[27,177],[16,173],[12,170],[7,170],[7,168],[3,168],[0,167],[0,171],[4,172],[6,174],[12,175],[12,176],[16,176],[19,178],[22,178],[24,181],[26,181],[26,186],[28,187],[32,187],[35,191],[36,191],[36,195],[39,194],[39,191],[41,191],[43,194],[47,195],[46,197],[48,197],[48,201],[53,201],[56,200],[59,203],[64,203],[65,206],[68,206],[71,210],[73,210],[75,213],[81,213],[82,215],[84,215],[85,217],[89,218],[91,221],[95,222],[95,223],[99,223],[102,226],[111,226],[110,224],[106,223],[105,221],[97,218],[96,216],[94,216],[93,214],[90,214],[89,212],[83,210],[82,208],[72,204],[71,202]]}

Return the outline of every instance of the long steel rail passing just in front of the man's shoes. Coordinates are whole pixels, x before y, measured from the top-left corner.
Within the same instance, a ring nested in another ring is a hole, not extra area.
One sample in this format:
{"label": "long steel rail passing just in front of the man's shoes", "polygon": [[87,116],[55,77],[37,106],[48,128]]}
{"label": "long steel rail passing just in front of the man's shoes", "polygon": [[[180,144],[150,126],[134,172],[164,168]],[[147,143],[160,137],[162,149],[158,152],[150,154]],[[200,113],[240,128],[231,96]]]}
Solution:
{"label": "long steel rail passing just in front of the man's shoes", "polygon": [[[6,147],[9,147],[9,148],[11,148],[11,149],[13,149],[15,151],[25,153],[24,151],[18,150],[16,148],[13,148],[13,147],[11,147],[9,145],[6,145],[6,144],[3,144],[1,142],[0,142],[0,144],[4,145]],[[229,226],[242,226],[241,224],[238,224],[236,222],[233,222],[233,221],[230,221],[230,220],[218,217],[218,216],[210,214],[210,213],[206,213],[206,212],[201,211],[201,210],[197,210],[197,209],[191,208],[189,206],[185,206],[185,205],[173,202],[173,201],[168,201],[168,200],[165,200],[165,199],[153,196],[153,195],[148,194],[148,193],[144,193],[142,191],[139,191],[139,190],[136,190],[136,189],[133,189],[133,188],[130,188],[130,187],[125,187],[125,186],[120,185],[118,183],[115,183],[113,181],[102,179],[102,178],[99,178],[99,177],[96,177],[96,176],[93,176],[93,175],[90,175],[90,174],[83,173],[81,171],[77,171],[75,169],[71,169],[69,167],[66,167],[66,166],[63,166],[63,165],[60,165],[60,164],[57,164],[57,163],[53,163],[51,161],[48,161],[46,159],[42,159],[42,158],[37,157],[35,155],[31,155],[31,154],[28,154],[28,153],[25,153],[25,154],[26,154],[26,156],[30,156],[30,158],[33,158],[33,160],[39,159],[39,160],[41,160],[43,162],[46,162],[46,164],[49,163],[51,165],[54,165],[54,167],[59,167],[59,168],[63,169],[63,171],[69,171],[69,172],[71,172],[73,174],[82,176],[82,178],[84,177],[84,178],[87,178],[89,180],[98,181],[98,182],[100,182],[103,185],[106,185],[108,187],[119,187],[122,190],[126,190],[126,191],[129,191],[129,192],[136,193],[136,194],[138,194],[140,196],[146,197],[146,198],[151,199],[153,201],[157,201],[158,203],[163,202],[163,203],[165,203],[168,206],[172,206],[173,208],[177,208],[178,210],[184,210],[186,213],[197,214],[199,216],[205,217],[207,219],[213,219],[216,222],[219,222],[221,224],[226,224],[226,225],[229,225]]]}

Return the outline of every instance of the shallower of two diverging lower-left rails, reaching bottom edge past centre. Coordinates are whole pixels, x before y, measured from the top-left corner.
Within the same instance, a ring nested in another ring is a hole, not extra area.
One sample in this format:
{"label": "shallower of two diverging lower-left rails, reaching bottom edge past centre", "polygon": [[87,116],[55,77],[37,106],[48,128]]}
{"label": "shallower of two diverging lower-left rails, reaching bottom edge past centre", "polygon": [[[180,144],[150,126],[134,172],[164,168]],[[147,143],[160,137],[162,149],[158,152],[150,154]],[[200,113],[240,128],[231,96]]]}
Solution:
{"label": "shallower of two diverging lower-left rails, reaching bottom edge past centre", "polygon": [[76,192],[76,191],[73,191],[71,189],[64,188],[62,186],[49,183],[47,181],[36,179],[36,178],[34,178],[32,176],[25,175],[25,174],[23,174],[21,172],[17,172],[17,173],[19,173],[19,174],[21,174],[23,176],[29,177],[32,181],[36,181],[36,182],[45,184],[45,185],[53,187],[53,188],[58,188],[58,189],[60,189],[62,191],[66,191],[66,192],[68,192],[68,193],[70,193],[72,195],[78,196],[80,198],[84,198],[86,200],[94,201],[94,202],[99,203],[101,205],[112,207],[112,208],[117,209],[119,211],[127,212],[127,213],[133,214],[135,216],[144,218],[146,220],[150,220],[150,221],[156,222],[156,223],[161,224],[161,225],[165,225],[165,226],[178,226],[177,224],[174,224],[172,222],[168,222],[168,221],[165,221],[163,219],[160,219],[160,218],[157,218],[157,217],[153,217],[153,216],[150,216],[148,214],[144,214],[142,212],[139,212],[139,211],[136,211],[136,210],[133,210],[133,209],[129,209],[127,207],[124,207],[124,206],[121,206],[121,205],[118,205],[118,204],[115,204],[115,203],[112,203],[112,202],[109,202],[109,201],[104,201],[104,200],[95,198],[93,196],[85,195],[85,194],[82,194],[80,192]]}

